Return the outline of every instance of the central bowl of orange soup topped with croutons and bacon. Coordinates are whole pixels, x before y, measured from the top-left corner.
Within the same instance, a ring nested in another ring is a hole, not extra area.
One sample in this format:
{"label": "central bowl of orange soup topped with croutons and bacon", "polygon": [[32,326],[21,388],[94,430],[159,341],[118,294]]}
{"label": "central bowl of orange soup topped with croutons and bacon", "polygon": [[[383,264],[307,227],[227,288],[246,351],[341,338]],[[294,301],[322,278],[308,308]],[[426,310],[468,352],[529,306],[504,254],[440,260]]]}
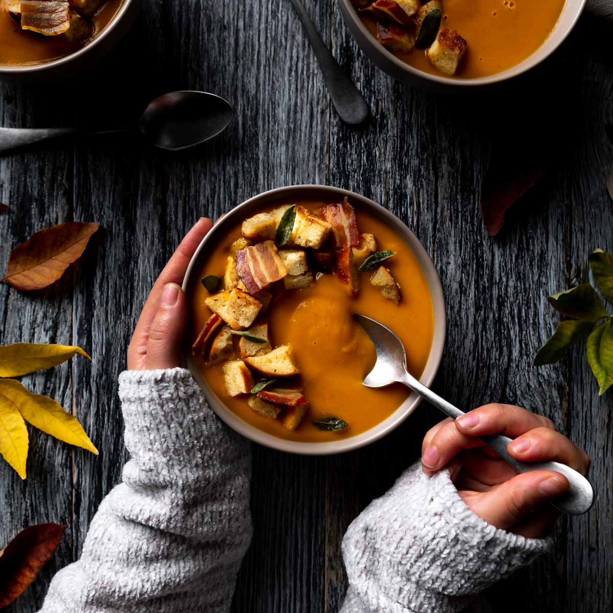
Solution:
{"label": "central bowl of orange soup topped with croutons and bacon", "polygon": [[429,386],[446,319],[435,267],[372,200],[292,186],[230,211],[202,241],[183,289],[186,364],[226,424],[265,446],[334,454],[381,438],[420,398],[362,385],[375,347],[354,313],[391,327]]}

